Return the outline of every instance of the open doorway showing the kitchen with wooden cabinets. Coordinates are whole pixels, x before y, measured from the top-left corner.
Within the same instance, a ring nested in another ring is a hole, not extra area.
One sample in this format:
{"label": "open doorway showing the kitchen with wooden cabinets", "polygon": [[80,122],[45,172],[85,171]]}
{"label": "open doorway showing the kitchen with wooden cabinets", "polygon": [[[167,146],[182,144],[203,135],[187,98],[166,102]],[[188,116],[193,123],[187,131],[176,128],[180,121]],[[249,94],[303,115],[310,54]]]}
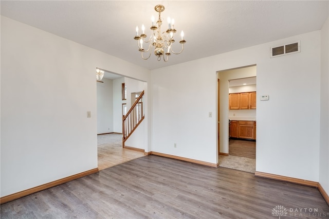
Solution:
{"label": "open doorway showing the kitchen with wooden cabinets", "polygon": [[[220,79],[218,84],[219,166],[254,173],[256,65],[218,71],[217,77]],[[254,101],[252,107],[250,100]]]}

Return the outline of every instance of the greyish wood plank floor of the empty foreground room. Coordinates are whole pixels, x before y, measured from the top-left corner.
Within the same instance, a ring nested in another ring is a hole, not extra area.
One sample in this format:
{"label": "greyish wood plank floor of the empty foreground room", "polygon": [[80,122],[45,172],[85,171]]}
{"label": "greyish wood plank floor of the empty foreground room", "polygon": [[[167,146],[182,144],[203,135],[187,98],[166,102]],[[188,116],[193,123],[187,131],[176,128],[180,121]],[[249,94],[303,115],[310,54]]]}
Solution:
{"label": "greyish wood plank floor of the empty foreground room", "polygon": [[[329,206],[316,188],[155,155],[1,205],[1,218],[279,218]],[[281,218],[327,218],[307,215]]]}

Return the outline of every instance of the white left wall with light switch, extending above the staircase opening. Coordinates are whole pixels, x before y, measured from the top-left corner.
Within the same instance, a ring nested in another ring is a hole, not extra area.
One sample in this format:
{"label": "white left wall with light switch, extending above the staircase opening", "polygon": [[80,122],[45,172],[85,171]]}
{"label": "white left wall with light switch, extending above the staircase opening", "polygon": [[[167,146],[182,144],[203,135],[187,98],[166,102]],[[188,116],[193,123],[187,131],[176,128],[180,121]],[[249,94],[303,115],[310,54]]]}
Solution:
{"label": "white left wall with light switch, extending above the staircase opening", "polygon": [[1,16],[2,197],[97,168],[96,67],[150,79],[148,69]]}

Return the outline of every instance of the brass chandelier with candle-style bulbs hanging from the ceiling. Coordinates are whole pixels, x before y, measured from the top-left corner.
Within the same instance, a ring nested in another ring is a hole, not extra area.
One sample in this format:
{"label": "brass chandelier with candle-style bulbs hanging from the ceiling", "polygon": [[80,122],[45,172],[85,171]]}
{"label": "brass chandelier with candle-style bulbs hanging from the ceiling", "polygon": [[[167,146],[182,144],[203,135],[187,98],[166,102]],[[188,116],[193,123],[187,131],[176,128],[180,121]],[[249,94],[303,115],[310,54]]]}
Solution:
{"label": "brass chandelier with candle-style bulbs hanging from the ceiling", "polygon": [[[147,35],[145,34],[145,27],[142,25],[142,33],[138,35],[138,26],[136,26],[136,36],[134,39],[137,41],[138,51],[141,52],[142,59],[147,60],[151,57],[152,51],[154,51],[155,56],[158,57],[158,61],[163,57],[163,61],[167,62],[171,53],[179,54],[184,50],[184,44],[186,41],[184,40],[184,32],[181,31],[180,36],[181,40],[179,43],[181,44],[181,50],[179,52],[174,52],[172,49],[173,43],[175,40],[173,39],[174,33],[176,33],[176,29],[174,28],[174,19],[170,19],[168,17],[168,29],[164,32],[161,32],[161,24],[162,17],[161,12],[165,10],[163,5],[157,5],[154,7],[155,11],[159,13],[158,21],[156,22],[157,26],[154,25],[154,16],[152,16],[152,26],[151,30],[153,30],[153,34],[150,36],[149,40],[147,40]],[[143,48],[143,43],[148,44],[147,49]],[[165,53],[165,50],[167,52]],[[143,54],[148,53],[148,57],[144,57]]]}

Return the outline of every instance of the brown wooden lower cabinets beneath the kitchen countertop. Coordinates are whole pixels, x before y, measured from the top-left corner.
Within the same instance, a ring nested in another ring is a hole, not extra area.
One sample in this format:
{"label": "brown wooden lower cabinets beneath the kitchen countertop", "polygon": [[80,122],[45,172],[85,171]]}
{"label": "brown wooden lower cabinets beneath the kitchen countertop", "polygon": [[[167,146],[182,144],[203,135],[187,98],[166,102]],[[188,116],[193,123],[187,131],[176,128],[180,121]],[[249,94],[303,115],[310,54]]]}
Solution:
{"label": "brown wooden lower cabinets beneath the kitchen countertop", "polygon": [[231,121],[231,137],[243,139],[256,139],[256,122],[254,121]]}

